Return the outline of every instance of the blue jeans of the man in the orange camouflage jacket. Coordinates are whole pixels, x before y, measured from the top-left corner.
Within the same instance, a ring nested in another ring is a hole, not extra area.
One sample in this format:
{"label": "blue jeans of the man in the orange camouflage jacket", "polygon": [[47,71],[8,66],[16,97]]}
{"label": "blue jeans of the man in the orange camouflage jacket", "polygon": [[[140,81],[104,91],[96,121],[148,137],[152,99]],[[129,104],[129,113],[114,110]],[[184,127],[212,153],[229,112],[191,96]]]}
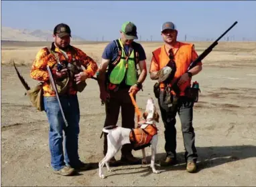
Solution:
{"label": "blue jeans of the man in the orange camouflage jacket", "polygon": [[[51,165],[54,170],[60,170],[65,165],[76,167],[81,164],[78,156],[78,134],[80,110],[77,96],[60,96],[60,103],[65,118],[68,122],[66,127],[60,106],[56,97],[44,97],[44,107],[49,128],[49,147]],[[64,131],[64,138],[63,138]],[[64,140],[64,153],[63,153]]]}

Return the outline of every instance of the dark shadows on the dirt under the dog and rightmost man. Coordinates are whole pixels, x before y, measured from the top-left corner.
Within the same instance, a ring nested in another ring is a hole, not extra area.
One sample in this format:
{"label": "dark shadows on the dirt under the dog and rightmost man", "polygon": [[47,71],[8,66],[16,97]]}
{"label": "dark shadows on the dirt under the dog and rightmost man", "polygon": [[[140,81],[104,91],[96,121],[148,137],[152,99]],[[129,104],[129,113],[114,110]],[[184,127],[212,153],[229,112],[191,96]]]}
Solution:
{"label": "dark shadows on the dirt under the dog and rightmost man", "polygon": [[[139,151],[139,150],[138,150]],[[243,160],[247,158],[256,157],[256,146],[243,145],[243,146],[212,146],[212,147],[197,147],[198,160],[197,166],[198,171],[212,168],[226,164],[228,162],[235,162],[237,160]],[[165,153],[159,153],[156,155],[156,164],[159,164],[160,160],[165,159]],[[150,164],[151,156],[147,156],[147,165],[140,165],[137,168],[134,166],[131,168],[113,168],[113,172],[118,170],[136,170],[136,172],[123,172],[121,174],[109,173],[107,176],[123,175],[123,174],[142,174],[141,176],[148,176],[152,174]],[[177,153],[178,164],[174,166],[160,167],[155,166],[157,170],[162,172],[175,171],[175,170],[186,170],[186,162],[184,159],[184,152]],[[107,172],[107,171],[106,171]]]}

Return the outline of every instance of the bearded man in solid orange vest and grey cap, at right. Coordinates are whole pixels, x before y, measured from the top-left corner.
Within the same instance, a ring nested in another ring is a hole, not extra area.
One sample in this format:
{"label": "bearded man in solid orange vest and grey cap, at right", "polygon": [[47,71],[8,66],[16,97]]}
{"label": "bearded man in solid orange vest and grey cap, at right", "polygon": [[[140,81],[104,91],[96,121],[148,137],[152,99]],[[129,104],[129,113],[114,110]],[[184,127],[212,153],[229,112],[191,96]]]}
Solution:
{"label": "bearded man in solid orange vest and grey cap, at right", "polygon": [[[164,45],[153,51],[151,65],[149,68],[150,78],[158,79],[157,73],[166,65],[172,64],[175,69],[172,78],[168,81],[159,83],[158,104],[162,114],[162,120],[165,126],[165,150],[166,159],[161,163],[161,166],[169,166],[176,164],[176,114],[180,117],[182,124],[182,134],[184,140],[185,160],[187,162],[187,172],[196,172],[196,160],[198,154],[196,152],[195,133],[192,126],[194,100],[186,96],[186,90],[191,85],[193,75],[196,75],[202,70],[202,62],[188,71],[188,67],[196,57],[194,45],[190,43],[182,43],[177,41],[178,31],[176,25],[172,22],[166,22],[162,25],[161,33]],[[179,93],[175,93],[170,88],[174,82],[178,80]],[[169,99],[168,99],[169,96]]]}

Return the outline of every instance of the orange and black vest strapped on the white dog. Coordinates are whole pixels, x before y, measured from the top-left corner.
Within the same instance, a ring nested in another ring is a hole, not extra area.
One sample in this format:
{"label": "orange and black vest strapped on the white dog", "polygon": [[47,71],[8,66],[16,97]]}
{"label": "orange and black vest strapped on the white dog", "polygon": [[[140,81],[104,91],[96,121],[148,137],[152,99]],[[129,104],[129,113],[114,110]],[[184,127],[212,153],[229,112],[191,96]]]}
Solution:
{"label": "orange and black vest strapped on the white dog", "polygon": [[145,128],[132,129],[129,135],[133,150],[141,150],[147,146],[150,146],[150,142],[155,134],[157,134],[157,127],[155,124],[145,124]]}

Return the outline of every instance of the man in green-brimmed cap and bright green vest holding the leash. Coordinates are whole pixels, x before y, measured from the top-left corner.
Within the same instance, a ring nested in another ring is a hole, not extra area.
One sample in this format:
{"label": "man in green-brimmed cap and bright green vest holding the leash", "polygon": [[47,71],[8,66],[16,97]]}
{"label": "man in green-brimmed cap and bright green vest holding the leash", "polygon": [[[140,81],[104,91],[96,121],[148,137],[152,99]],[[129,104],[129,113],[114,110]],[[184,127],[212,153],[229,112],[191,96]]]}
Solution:
{"label": "man in green-brimmed cap and bright green vest holding the leash", "polygon": [[[111,41],[105,47],[102,55],[102,63],[99,67],[100,98],[105,102],[106,126],[115,126],[118,121],[121,108],[122,127],[135,128],[135,107],[131,102],[129,93],[134,95],[142,87],[147,75],[145,65],[145,51],[143,47],[133,41],[138,39],[137,27],[127,21],[121,27],[121,37]],[[140,74],[137,74],[137,65]],[[125,144],[121,148],[121,162],[125,164],[139,164],[141,160],[131,154],[131,144]],[[103,154],[107,154],[107,134],[104,137]],[[115,163],[112,158],[110,164]]]}

